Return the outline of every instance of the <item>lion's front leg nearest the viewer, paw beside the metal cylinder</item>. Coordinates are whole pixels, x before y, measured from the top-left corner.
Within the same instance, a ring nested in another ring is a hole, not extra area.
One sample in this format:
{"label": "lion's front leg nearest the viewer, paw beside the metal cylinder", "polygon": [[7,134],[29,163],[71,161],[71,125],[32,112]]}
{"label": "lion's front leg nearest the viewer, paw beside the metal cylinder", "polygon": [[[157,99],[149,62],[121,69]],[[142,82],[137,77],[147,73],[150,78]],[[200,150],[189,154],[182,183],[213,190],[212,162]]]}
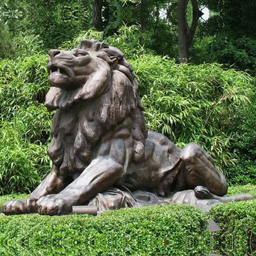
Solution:
{"label": "lion's front leg nearest the viewer, paw beside the metal cylinder", "polygon": [[53,197],[41,197],[36,203],[40,214],[67,214],[73,205],[81,205],[97,193],[113,186],[123,174],[123,165],[111,157],[98,157],[80,176],[59,194]]}

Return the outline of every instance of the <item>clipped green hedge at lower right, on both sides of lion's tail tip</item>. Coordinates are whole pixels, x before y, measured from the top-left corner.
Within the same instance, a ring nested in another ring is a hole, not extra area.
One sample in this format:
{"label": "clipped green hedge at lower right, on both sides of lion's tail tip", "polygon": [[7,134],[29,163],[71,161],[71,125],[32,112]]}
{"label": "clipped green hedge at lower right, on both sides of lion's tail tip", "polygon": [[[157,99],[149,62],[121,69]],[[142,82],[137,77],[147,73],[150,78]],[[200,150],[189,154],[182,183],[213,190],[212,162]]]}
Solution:
{"label": "clipped green hedge at lower right, on both sides of lion's tail tip", "polygon": [[[234,186],[229,195],[251,194],[256,186]],[[210,217],[223,229],[214,235],[215,250],[223,255],[256,255],[256,200],[231,202],[211,208]]]}

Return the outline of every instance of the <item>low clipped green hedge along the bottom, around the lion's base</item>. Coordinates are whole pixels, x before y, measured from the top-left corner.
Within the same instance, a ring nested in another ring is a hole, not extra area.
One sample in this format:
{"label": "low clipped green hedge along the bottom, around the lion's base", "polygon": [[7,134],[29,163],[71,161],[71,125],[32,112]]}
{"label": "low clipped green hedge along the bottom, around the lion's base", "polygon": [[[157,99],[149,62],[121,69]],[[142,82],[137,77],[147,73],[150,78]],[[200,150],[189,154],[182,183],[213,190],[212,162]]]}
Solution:
{"label": "low clipped green hedge along the bottom, around the lion's base", "polygon": [[[230,187],[228,195],[256,196],[256,186]],[[0,208],[10,199],[0,197]],[[101,216],[0,214],[0,255],[256,255],[256,200],[218,205],[210,218],[223,229],[205,231],[207,216],[187,205],[122,209]],[[214,246],[213,246],[214,245]]]}

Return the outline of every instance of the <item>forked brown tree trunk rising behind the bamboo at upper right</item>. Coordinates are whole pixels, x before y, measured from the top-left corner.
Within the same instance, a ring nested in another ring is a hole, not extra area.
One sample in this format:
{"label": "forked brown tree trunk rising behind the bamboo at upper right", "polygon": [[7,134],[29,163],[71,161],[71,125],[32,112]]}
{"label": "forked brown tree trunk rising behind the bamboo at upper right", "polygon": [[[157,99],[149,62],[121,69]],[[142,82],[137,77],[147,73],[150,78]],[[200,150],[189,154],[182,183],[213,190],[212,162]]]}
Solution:
{"label": "forked brown tree trunk rising behind the bamboo at upper right", "polygon": [[193,21],[189,28],[186,19],[186,9],[189,0],[178,0],[178,30],[179,30],[179,61],[180,63],[188,62],[189,47],[192,44],[195,35],[198,19],[202,16],[202,12],[198,8],[197,0],[190,0],[193,5]]}

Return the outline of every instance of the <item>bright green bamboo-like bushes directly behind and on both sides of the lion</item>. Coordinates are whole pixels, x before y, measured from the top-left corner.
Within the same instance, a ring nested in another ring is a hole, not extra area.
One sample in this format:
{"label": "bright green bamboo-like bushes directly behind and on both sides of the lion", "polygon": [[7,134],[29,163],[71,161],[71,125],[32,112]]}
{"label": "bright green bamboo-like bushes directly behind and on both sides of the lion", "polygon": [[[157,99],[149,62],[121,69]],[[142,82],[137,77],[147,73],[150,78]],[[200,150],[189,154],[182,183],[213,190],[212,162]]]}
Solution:
{"label": "bright green bamboo-like bushes directly behind and on both sides of the lion", "polygon": [[[101,40],[102,33],[85,31],[62,48],[72,48],[85,37]],[[122,27],[106,39],[126,54],[137,73],[148,128],[181,147],[199,143],[227,174],[235,162],[227,127],[251,98],[252,78],[218,64],[177,65],[145,50],[139,41],[136,27]],[[52,113],[42,105],[49,88],[46,61],[43,53],[0,61],[1,194],[30,191],[49,172]]]}

